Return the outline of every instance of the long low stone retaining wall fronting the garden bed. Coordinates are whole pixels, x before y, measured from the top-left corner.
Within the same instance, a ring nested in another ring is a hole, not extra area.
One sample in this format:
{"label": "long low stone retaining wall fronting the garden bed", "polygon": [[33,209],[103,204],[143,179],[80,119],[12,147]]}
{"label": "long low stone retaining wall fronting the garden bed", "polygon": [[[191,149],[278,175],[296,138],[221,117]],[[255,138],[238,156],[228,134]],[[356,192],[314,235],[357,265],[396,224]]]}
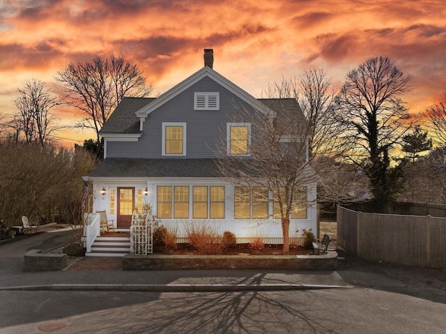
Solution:
{"label": "long low stone retaining wall fronting the garden bed", "polygon": [[255,269],[320,270],[337,268],[337,252],[327,255],[126,255],[123,270]]}

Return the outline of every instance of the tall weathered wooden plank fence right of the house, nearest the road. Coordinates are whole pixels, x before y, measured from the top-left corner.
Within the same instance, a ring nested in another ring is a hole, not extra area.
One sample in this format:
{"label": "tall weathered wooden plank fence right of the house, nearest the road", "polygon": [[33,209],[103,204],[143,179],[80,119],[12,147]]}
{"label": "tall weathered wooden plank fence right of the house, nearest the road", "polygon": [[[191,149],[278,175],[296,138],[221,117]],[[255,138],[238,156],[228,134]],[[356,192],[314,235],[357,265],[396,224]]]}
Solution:
{"label": "tall weathered wooden plank fence right of the house, nearest the road", "polygon": [[446,268],[446,218],[337,207],[337,245],[363,259]]}

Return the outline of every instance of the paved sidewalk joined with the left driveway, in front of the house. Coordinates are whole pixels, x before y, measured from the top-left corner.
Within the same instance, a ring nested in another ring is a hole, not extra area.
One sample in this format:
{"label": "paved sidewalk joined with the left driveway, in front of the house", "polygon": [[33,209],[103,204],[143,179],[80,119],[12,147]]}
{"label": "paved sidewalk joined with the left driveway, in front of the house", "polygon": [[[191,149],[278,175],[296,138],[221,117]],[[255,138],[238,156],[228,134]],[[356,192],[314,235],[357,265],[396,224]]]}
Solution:
{"label": "paved sidewalk joined with the left driveway, in front of the house", "polygon": [[23,271],[24,253],[66,244],[72,230],[43,232],[13,243],[0,243],[0,290],[105,291],[283,291],[351,287],[336,271],[121,271],[121,259],[80,259],[64,271]]}

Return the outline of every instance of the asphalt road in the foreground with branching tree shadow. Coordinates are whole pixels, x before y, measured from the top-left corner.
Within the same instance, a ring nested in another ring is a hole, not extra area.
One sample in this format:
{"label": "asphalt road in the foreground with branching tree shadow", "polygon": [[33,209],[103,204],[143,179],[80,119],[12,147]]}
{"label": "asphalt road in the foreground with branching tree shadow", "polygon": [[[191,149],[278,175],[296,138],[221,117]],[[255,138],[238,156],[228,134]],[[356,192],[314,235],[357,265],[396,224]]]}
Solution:
{"label": "asphalt road in the foreground with branching tree shadow", "polygon": [[374,289],[0,291],[0,333],[430,333],[446,305]]}

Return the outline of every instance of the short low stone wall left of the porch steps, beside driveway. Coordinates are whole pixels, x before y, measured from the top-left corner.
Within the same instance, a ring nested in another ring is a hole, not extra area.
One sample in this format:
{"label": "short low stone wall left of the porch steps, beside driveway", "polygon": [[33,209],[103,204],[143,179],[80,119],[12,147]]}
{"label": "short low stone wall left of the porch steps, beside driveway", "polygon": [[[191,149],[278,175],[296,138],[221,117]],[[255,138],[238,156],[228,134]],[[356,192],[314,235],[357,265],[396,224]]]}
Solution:
{"label": "short low stone wall left of the porch steps, beside driveway", "polygon": [[24,255],[24,271],[61,271],[68,265],[66,254],[29,250]]}

